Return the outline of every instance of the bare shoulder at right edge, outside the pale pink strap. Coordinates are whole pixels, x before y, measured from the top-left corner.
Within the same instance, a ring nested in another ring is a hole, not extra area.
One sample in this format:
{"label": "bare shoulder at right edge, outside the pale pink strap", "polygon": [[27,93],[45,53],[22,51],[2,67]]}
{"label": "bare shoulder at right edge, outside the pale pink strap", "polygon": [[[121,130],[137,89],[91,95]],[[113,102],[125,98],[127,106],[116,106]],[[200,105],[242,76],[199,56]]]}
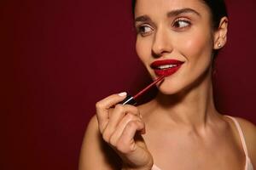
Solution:
{"label": "bare shoulder at right edge, outside the pale pink strap", "polygon": [[256,126],[252,122],[240,117],[236,117],[236,120],[241,125],[242,132],[244,133],[247,150],[253,162],[253,167],[256,167]]}

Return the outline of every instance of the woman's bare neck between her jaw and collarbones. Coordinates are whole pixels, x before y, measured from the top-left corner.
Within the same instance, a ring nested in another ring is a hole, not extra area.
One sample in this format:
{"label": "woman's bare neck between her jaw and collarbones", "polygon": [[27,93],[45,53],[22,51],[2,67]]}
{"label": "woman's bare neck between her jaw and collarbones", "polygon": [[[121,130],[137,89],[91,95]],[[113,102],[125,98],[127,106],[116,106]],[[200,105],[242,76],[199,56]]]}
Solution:
{"label": "woman's bare neck between her jaw and collarbones", "polygon": [[[189,127],[205,127],[209,118],[216,117],[212,94],[211,73],[191,89],[181,94],[158,94],[155,102],[163,119]],[[171,119],[166,119],[169,117]]]}

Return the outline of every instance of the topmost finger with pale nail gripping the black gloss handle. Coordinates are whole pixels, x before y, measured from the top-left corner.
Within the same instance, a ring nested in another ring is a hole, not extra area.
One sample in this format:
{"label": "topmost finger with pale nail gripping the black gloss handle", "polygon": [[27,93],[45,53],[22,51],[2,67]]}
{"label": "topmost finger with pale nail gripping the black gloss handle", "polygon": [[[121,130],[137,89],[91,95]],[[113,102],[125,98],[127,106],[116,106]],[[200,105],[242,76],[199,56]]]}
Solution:
{"label": "topmost finger with pale nail gripping the black gloss handle", "polygon": [[113,94],[96,103],[96,116],[101,132],[108,124],[108,109],[125,99],[126,93]]}

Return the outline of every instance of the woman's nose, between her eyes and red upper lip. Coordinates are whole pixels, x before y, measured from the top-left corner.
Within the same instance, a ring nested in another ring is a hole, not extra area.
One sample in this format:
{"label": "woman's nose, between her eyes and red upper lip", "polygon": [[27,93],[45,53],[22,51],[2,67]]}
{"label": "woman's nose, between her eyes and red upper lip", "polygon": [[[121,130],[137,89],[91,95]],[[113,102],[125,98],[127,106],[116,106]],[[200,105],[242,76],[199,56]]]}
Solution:
{"label": "woman's nose, between her eyes and red upper lip", "polygon": [[159,28],[154,34],[154,42],[152,44],[152,55],[159,58],[165,54],[172,52],[172,41],[165,28]]}

